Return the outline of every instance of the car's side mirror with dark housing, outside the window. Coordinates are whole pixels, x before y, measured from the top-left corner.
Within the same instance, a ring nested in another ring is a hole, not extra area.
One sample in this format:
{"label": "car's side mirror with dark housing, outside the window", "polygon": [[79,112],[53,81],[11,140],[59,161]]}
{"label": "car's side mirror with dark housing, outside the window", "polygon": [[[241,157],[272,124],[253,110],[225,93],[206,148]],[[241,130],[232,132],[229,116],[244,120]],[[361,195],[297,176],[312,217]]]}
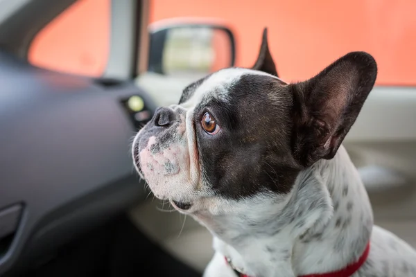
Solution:
{"label": "car's side mirror with dark housing, outside the window", "polygon": [[148,71],[199,78],[234,66],[234,35],[221,24],[163,21],[150,26]]}

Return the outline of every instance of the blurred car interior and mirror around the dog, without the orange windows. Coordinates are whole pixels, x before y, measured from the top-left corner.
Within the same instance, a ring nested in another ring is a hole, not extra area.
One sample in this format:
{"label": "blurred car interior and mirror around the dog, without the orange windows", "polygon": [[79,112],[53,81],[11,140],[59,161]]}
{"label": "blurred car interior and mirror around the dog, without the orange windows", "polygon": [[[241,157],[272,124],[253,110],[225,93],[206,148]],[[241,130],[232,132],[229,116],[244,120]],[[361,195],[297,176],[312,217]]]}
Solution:
{"label": "blurred car interior and mirror around the dog, without the orange windows", "polygon": [[[151,9],[162,1],[106,1],[109,46],[99,76],[30,59],[45,26],[98,1],[0,1],[0,276],[201,276],[214,253],[207,229],[153,197],[130,145],[187,84],[241,66],[241,39],[220,18],[156,20]],[[249,40],[259,48],[255,31]],[[344,145],[375,223],[416,247],[410,77],[374,87]]]}

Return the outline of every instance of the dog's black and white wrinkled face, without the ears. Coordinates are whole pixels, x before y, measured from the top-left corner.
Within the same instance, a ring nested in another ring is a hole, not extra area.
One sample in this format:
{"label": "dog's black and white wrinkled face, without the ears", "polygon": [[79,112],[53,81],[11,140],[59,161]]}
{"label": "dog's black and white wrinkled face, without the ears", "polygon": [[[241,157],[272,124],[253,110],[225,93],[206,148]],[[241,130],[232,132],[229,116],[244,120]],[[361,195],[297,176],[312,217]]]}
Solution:
{"label": "dog's black and white wrinkled face, without the ears", "polygon": [[223,69],[188,87],[180,105],[159,108],[135,143],[156,197],[195,205],[287,193],[297,165],[285,86],[261,71]]}

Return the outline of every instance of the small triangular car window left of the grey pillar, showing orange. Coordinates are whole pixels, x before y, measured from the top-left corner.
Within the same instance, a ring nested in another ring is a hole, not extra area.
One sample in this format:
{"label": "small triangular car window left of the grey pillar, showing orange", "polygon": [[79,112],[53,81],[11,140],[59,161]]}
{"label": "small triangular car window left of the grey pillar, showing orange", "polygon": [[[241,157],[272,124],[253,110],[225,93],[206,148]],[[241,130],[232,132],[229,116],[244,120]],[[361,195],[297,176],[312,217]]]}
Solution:
{"label": "small triangular car window left of the grey pillar, showing orange", "polygon": [[98,77],[110,46],[110,0],[79,0],[33,39],[28,61],[55,71]]}

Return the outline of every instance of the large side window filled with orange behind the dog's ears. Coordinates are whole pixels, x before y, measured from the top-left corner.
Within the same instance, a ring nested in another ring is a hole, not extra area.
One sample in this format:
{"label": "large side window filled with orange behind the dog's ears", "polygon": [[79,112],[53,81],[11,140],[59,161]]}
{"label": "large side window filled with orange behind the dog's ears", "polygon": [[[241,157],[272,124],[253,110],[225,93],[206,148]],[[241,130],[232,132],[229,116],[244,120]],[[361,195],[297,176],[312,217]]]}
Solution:
{"label": "large side window filled with orange behind the dog's ears", "polygon": [[[257,57],[263,27],[281,78],[305,80],[349,51],[379,65],[378,85],[416,85],[416,1],[153,0],[150,21],[171,17],[225,19],[236,35],[237,66]],[[221,8],[218,8],[218,7]]]}

